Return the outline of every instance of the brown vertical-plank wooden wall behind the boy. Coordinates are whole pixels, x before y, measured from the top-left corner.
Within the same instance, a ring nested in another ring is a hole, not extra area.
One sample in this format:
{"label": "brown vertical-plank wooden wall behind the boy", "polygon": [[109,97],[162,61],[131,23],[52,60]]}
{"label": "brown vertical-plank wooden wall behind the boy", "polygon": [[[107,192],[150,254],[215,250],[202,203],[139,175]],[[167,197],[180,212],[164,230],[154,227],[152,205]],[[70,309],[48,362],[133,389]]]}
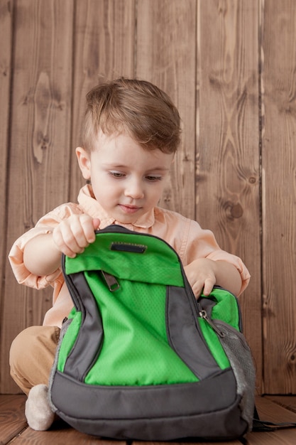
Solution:
{"label": "brown vertical-plank wooden wall behind the boy", "polygon": [[76,200],[85,93],[125,75],[155,82],[182,116],[162,205],[250,269],[241,305],[258,392],[296,393],[295,23],[295,0],[0,0],[0,392],[18,391],[11,341],[51,302],[16,283],[7,254]]}

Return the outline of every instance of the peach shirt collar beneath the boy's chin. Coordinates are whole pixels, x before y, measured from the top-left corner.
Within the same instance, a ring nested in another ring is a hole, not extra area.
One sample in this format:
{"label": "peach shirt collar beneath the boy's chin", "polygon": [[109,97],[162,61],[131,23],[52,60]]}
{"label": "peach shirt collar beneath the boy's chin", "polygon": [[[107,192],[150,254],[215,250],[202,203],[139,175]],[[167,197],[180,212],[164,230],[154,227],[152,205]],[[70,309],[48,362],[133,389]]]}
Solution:
{"label": "peach shirt collar beneath the boy's chin", "polygon": [[99,218],[99,220],[101,221],[99,227],[101,229],[104,229],[104,227],[111,224],[119,224],[128,228],[131,228],[131,226],[133,226],[139,227],[141,229],[148,229],[155,223],[154,209],[151,209],[148,213],[142,215],[141,218],[138,218],[138,220],[136,220],[133,224],[123,224],[119,221],[114,220],[114,218],[106,213],[106,211],[104,210],[104,208],[102,208],[102,205],[99,204],[96,198],[94,198],[92,186],[90,186],[89,184],[80,189],[80,193],[78,195],[78,203],[85,213],[92,216],[92,218]]}

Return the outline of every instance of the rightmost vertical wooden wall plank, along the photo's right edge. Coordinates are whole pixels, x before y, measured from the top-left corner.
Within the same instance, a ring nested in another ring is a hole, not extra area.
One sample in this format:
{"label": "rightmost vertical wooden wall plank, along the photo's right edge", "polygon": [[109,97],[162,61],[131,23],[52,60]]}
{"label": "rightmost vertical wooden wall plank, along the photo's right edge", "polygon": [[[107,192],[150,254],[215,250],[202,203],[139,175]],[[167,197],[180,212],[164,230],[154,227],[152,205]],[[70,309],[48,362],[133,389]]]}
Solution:
{"label": "rightmost vertical wooden wall plank, along the photo's right edge", "polygon": [[263,2],[264,392],[296,392],[296,3]]}

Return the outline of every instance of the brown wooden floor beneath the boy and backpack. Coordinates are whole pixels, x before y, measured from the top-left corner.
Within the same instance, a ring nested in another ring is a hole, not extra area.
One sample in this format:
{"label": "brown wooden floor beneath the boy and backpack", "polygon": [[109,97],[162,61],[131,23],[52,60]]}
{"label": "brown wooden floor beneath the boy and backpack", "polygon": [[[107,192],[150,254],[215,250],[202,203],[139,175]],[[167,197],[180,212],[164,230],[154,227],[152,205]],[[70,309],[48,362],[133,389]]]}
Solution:
{"label": "brown wooden floor beneath the boy and backpack", "polygon": [[[24,416],[25,400],[26,397],[23,395],[0,395],[0,445],[131,445],[130,442],[126,444],[124,441],[107,441],[82,434],[63,422],[55,422],[49,431],[33,431],[28,427]],[[258,397],[256,405],[261,419],[272,422],[296,422],[296,396]],[[136,445],[136,442],[134,444]],[[145,442],[141,442],[141,445],[143,444]],[[199,441],[198,444],[205,445],[206,443]],[[241,440],[207,442],[207,445],[211,444],[294,445],[296,444],[296,429],[252,432]]]}

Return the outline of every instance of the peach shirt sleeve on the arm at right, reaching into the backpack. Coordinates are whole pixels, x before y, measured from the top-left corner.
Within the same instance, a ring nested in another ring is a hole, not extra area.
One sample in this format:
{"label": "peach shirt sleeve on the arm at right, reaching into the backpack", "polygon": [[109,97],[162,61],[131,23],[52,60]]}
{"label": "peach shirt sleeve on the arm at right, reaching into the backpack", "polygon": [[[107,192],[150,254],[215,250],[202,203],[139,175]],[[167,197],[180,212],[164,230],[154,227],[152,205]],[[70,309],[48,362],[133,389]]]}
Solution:
{"label": "peach shirt sleeve on the arm at right, reaching into the backpack", "polygon": [[234,254],[221,250],[214,233],[211,230],[203,230],[196,221],[190,221],[187,233],[186,248],[183,255],[183,264],[190,264],[197,258],[208,258],[214,261],[226,261],[232,264],[241,275],[241,289],[239,295],[246,289],[251,275],[243,264],[241,258]]}

